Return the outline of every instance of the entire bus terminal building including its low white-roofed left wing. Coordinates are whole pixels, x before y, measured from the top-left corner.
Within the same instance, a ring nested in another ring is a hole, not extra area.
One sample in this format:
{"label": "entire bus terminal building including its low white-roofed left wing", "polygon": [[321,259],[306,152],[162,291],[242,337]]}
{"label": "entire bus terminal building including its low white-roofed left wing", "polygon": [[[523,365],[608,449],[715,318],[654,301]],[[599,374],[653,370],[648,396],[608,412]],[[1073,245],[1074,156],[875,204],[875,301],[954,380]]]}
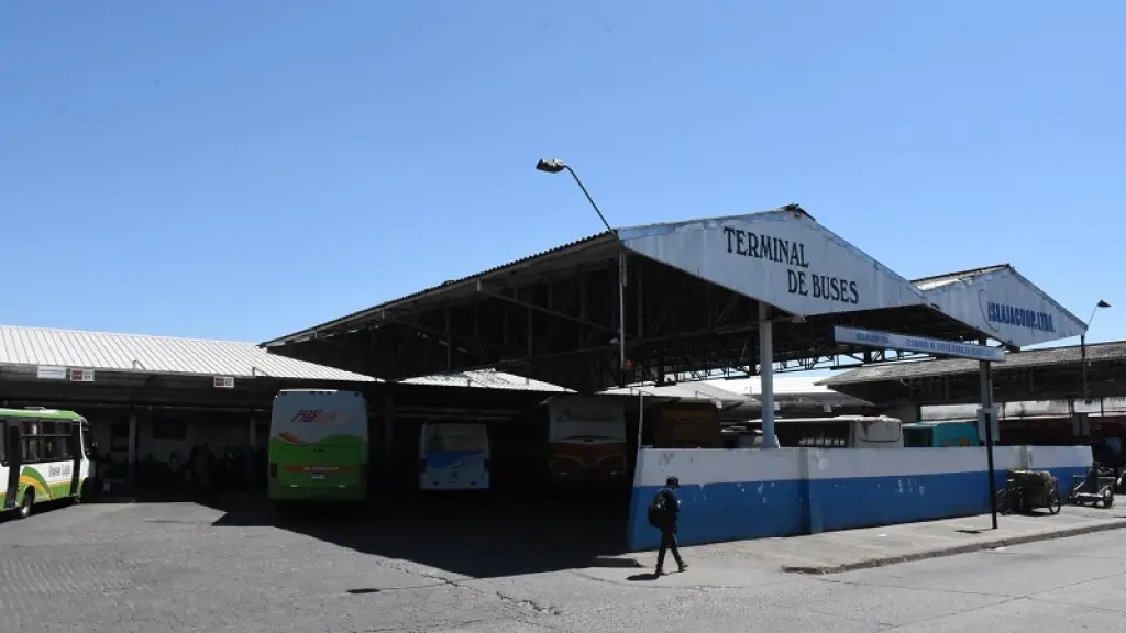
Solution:
{"label": "entire bus terminal building including its low white-roofed left wing", "polygon": [[[874,340],[938,341],[944,349],[983,349],[977,344],[988,340],[989,357],[1004,358],[1004,350],[1085,331],[1012,267],[972,273],[908,280],[790,205],[607,231],[260,347],[5,329],[0,401],[78,410],[104,434],[104,447],[133,463],[200,442],[213,451],[258,449],[278,390],[358,390],[368,395],[381,490],[417,485],[419,428],[452,419],[494,425],[490,443],[507,472],[495,473],[498,489],[510,482],[535,497],[546,490],[527,476],[543,465],[545,403],[564,392],[609,390],[599,398],[626,403],[633,478],[615,491],[622,497],[605,523],[617,537],[626,532],[629,547],[652,545],[638,516],[667,475],[680,478],[696,509],[686,516],[686,543],[975,514],[988,508],[976,448],[879,458],[860,458],[868,449],[851,457],[716,451],[718,437],[669,442],[651,424],[676,401],[735,411],[739,398],[700,398],[708,390],[688,383],[754,377],[766,428],[776,372],[878,366],[936,349]],[[842,338],[841,328],[869,338]],[[685,395],[659,395],[671,392]],[[999,469],[1027,462],[1028,453],[1012,448]],[[1070,476],[1084,457],[1067,448],[1039,451],[1037,460]],[[793,493],[747,492],[768,488]],[[887,498],[891,490],[908,492]],[[775,518],[753,518],[763,514]]]}

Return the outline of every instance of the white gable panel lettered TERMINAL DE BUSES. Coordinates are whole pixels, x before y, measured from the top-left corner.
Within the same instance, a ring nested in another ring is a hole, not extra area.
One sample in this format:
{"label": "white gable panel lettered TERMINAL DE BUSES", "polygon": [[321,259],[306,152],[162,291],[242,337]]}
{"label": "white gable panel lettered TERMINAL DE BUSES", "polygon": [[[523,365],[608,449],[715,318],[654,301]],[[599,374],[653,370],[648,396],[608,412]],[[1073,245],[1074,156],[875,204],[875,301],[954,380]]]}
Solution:
{"label": "white gable panel lettered TERMINAL DE BUSES", "polygon": [[803,316],[917,305],[922,291],[788,209],[623,229],[626,248]]}

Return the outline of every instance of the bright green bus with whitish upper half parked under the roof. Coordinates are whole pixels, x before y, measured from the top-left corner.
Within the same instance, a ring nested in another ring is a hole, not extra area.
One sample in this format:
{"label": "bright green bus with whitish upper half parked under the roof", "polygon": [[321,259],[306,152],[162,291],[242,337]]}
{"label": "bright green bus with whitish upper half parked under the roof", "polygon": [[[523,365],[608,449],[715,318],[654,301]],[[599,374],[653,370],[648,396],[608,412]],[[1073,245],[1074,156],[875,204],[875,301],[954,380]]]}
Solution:
{"label": "bright green bus with whitish upper half parked under the roof", "polygon": [[280,391],[270,414],[270,500],[367,500],[367,426],[361,393]]}

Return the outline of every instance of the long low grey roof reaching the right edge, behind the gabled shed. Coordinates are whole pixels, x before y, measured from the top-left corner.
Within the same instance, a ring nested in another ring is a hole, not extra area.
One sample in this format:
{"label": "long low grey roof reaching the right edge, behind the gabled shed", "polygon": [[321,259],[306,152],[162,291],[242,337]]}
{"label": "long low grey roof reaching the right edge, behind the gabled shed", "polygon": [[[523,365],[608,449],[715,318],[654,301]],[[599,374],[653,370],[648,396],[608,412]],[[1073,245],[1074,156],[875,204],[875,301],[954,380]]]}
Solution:
{"label": "long low grey roof reaching the right edge, behind the gabled shed", "polygon": [[[1126,341],[1100,342],[1087,346],[1087,359],[1091,363],[1126,360]],[[1079,346],[1052,347],[1010,353],[1004,363],[994,363],[994,372],[1028,367],[1047,367],[1053,365],[1079,365],[1082,351]],[[977,360],[966,358],[947,358],[942,360],[914,360],[909,363],[890,363],[870,365],[830,376],[819,384],[833,385],[887,382],[908,378],[927,378],[949,376],[954,374],[977,373]]]}

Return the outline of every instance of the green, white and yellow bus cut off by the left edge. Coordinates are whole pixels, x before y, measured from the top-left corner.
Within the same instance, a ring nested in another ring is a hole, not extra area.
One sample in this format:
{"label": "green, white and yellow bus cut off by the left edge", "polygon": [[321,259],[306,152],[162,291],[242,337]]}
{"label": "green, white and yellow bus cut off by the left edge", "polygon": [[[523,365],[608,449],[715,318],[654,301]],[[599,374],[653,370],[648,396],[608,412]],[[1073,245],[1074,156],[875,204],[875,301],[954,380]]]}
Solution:
{"label": "green, white and yellow bus cut off by the left edge", "polygon": [[25,518],[36,503],[87,496],[93,434],[73,411],[0,408],[3,514]]}

